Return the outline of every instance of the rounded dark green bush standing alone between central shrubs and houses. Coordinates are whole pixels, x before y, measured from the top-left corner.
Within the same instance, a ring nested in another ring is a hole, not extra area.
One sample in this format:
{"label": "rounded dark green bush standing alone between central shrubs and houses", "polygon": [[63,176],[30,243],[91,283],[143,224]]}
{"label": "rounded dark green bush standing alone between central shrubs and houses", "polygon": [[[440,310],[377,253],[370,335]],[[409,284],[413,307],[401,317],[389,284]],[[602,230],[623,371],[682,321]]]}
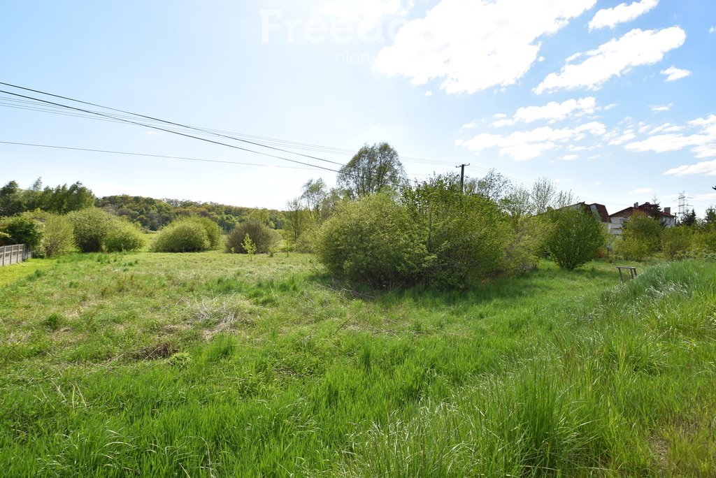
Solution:
{"label": "rounded dark green bush standing alone between central shrubs and houses", "polygon": [[607,242],[607,232],[599,216],[585,210],[563,208],[547,215],[551,230],[546,248],[559,267],[567,270],[596,257]]}

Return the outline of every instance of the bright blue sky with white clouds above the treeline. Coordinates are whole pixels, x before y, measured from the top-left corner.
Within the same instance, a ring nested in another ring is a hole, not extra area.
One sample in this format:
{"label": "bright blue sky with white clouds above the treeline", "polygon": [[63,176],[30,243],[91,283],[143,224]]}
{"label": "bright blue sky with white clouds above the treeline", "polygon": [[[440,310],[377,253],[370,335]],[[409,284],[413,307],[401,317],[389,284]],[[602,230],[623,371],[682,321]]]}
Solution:
{"label": "bright blue sky with white clouds above the treeline", "polygon": [[[700,215],[716,203],[712,0],[3,6],[1,82],[340,163],[387,141],[416,179],[470,163],[471,177],[490,168],[526,184],[549,177],[611,212],[654,196],[676,208],[682,191]],[[42,176],[97,195],[281,208],[306,180],[335,180],[147,127],[19,109],[27,104],[12,98],[0,94],[3,142],[258,166],[0,143],[3,184]]]}

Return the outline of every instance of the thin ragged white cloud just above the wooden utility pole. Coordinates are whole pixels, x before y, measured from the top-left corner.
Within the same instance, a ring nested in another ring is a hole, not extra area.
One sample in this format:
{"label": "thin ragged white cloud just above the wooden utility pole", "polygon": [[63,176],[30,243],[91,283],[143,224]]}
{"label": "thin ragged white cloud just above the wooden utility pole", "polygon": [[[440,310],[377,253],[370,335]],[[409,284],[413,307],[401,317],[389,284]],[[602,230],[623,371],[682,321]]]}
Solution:
{"label": "thin ragged white cloud just above the wooden utility pole", "polygon": [[553,129],[543,126],[506,135],[482,133],[470,140],[459,140],[457,144],[474,152],[498,148],[500,156],[511,156],[514,160],[523,161],[540,157],[547,151],[562,149],[568,146],[567,142],[583,140],[587,132],[591,135],[603,135],[605,131],[606,128],[599,122],[590,122],[574,128]]}

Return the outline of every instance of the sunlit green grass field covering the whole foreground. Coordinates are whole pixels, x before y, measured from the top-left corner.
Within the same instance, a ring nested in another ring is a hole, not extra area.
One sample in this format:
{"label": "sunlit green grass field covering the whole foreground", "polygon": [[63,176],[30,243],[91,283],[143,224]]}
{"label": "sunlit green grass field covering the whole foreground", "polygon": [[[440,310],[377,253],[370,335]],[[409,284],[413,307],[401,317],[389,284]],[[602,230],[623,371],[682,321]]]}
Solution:
{"label": "sunlit green grass field covering the whole foreground", "polygon": [[716,264],[370,291],[310,255],[0,269],[5,477],[716,476]]}

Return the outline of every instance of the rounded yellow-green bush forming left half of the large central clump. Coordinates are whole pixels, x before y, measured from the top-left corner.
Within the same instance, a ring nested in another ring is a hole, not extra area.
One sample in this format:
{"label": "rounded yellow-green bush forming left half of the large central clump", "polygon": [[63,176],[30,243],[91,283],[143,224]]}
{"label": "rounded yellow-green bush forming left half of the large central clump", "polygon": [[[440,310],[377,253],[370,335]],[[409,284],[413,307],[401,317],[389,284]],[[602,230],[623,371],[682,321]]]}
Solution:
{"label": "rounded yellow-green bush forming left half of the large central clump", "polygon": [[374,286],[415,283],[427,258],[418,225],[383,194],[340,205],[316,232],[315,251],[331,273]]}

